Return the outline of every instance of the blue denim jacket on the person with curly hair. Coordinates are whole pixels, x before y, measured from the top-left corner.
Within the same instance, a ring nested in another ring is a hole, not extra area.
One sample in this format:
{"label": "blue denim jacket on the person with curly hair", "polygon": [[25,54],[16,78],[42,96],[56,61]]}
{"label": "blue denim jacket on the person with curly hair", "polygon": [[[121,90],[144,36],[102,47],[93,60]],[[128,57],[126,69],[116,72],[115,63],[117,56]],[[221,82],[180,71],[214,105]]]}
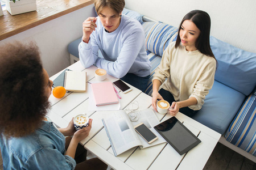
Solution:
{"label": "blue denim jacket on the person with curly hair", "polygon": [[65,154],[65,137],[52,122],[30,135],[6,139],[0,135],[3,169],[75,169],[76,162]]}

